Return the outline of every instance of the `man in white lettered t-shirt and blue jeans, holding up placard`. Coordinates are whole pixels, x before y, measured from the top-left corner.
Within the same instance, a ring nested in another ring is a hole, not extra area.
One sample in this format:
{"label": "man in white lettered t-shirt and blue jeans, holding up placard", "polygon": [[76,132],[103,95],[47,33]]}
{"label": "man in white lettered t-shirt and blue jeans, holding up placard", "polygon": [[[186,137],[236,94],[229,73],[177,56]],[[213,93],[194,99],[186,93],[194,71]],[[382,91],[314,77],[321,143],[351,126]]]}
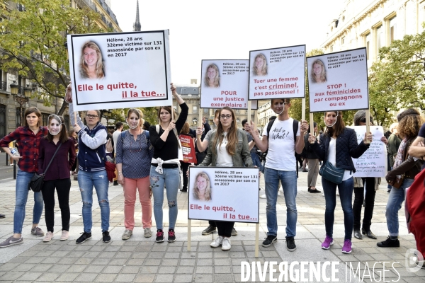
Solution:
{"label": "man in white lettered t-shirt and blue jeans, holding up placard", "polygon": [[[304,134],[307,132],[307,121],[294,125],[293,118],[289,117],[290,100],[288,98],[275,98],[271,100],[271,110],[278,117],[270,121],[270,131],[264,127],[263,139],[254,134],[254,123],[247,127],[252,134],[256,146],[262,151],[268,150],[264,168],[264,183],[266,185],[266,217],[267,238],[263,241],[263,247],[271,246],[278,241],[278,221],[276,214],[276,202],[278,198],[279,181],[282,183],[283,195],[286,204],[286,248],[294,251],[295,234],[297,225],[297,161],[295,151],[301,154],[304,148]],[[296,133],[294,137],[294,130]]]}

